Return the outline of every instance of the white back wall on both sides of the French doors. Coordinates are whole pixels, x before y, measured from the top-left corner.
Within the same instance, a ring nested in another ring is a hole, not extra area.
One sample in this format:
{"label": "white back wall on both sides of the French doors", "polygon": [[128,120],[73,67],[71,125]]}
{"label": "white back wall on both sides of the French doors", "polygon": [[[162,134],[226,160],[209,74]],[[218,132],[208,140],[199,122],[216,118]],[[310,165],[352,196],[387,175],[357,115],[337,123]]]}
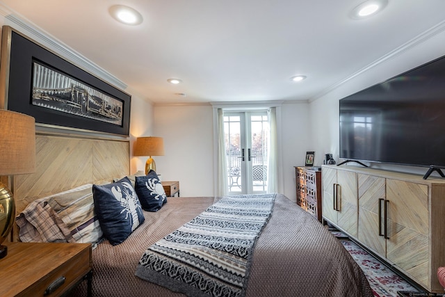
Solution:
{"label": "white back wall on both sides of the French doors", "polygon": [[[309,132],[309,104],[282,106],[284,195],[296,200],[295,169],[314,150]],[[210,105],[154,106],[154,135],[164,138],[165,156],[156,156],[164,181],[178,180],[181,196],[211,196],[213,177],[213,107]]]}

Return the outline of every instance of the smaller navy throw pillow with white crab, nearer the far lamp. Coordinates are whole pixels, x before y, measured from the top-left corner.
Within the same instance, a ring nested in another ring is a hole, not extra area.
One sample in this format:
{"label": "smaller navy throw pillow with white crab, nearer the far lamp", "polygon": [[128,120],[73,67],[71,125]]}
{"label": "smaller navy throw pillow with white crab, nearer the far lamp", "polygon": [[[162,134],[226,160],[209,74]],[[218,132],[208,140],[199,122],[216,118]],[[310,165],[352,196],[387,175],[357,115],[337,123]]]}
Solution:
{"label": "smaller navy throw pillow with white crab, nearer the far lamp", "polygon": [[143,177],[136,177],[135,188],[140,205],[146,211],[159,211],[167,203],[164,188],[154,170]]}

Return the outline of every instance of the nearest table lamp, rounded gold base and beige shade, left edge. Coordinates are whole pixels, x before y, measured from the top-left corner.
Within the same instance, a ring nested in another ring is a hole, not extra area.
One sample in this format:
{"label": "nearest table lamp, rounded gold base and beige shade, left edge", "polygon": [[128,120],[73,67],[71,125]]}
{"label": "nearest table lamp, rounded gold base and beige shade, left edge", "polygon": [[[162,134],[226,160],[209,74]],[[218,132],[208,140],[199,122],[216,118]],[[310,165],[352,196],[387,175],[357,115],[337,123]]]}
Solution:
{"label": "nearest table lamp, rounded gold base and beige shade, left edge", "polygon": [[[35,120],[29,115],[0,109],[0,176],[35,172]],[[8,186],[0,182],[0,259],[8,254],[1,243],[15,218],[15,202]]]}

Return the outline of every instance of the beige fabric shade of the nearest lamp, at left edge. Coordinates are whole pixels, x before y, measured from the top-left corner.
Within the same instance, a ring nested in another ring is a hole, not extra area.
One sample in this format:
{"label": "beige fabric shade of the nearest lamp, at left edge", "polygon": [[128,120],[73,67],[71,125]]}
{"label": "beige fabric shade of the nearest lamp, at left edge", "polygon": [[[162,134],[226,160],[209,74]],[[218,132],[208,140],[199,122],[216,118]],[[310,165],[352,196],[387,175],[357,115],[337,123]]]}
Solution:
{"label": "beige fabric shade of the nearest lamp, at left edge", "polygon": [[35,172],[35,120],[0,109],[0,175]]}

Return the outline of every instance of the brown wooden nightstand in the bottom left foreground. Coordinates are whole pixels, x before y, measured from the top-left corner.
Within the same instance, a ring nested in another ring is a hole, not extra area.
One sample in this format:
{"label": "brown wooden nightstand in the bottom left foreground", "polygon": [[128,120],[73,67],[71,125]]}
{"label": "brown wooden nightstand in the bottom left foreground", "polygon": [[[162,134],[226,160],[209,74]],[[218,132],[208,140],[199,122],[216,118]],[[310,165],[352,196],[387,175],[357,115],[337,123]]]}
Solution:
{"label": "brown wooden nightstand in the bottom left foreground", "polygon": [[0,296],[60,296],[88,280],[91,296],[90,243],[6,243],[0,259]]}

